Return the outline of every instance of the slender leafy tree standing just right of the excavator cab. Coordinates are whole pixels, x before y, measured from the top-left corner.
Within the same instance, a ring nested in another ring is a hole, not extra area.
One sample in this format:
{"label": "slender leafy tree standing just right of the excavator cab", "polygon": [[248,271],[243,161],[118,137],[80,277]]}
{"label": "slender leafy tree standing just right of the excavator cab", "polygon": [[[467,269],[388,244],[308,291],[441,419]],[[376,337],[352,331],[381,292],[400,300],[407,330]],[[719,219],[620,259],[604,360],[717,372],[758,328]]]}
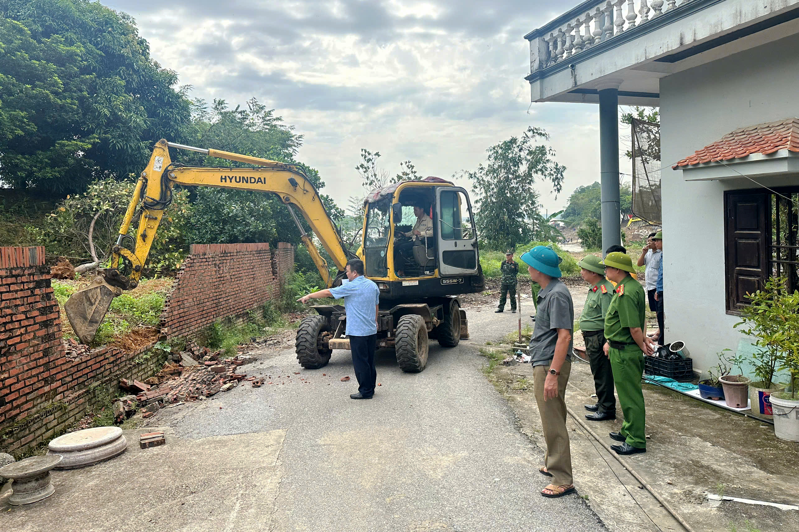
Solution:
{"label": "slender leafy tree standing just right of the excavator cab", "polygon": [[465,173],[475,191],[480,240],[489,248],[513,248],[533,240],[540,208],[534,188],[538,180],[550,181],[560,193],[566,167],[555,161],[554,149],[539,144],[548,140],[543,129],[527,128],[521,137],[491,146],[487,163]]}

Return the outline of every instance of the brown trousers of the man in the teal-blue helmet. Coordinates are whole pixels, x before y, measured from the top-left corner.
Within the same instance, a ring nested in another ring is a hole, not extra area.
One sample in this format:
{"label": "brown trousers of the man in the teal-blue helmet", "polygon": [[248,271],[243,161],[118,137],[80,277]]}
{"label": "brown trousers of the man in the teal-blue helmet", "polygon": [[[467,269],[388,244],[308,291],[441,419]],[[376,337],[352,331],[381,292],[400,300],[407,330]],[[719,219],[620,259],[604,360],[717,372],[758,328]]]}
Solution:
{"label": "brown trousers of the man in the teal-blue helmet", "polygon": [[569,486],[574,483],[571,476],[571,448],[569,432],[566,430],[566,383],[569,382],[571,363],[563,363],[558,377],[558,396],[544,400],[544,381],[547,379],[549,366],[533,367],[533,389],[535,402],[539,405],[541,426],[544,441],[547,442],[547,454],[544,455],[544,466],[552,474],[552,484]]}

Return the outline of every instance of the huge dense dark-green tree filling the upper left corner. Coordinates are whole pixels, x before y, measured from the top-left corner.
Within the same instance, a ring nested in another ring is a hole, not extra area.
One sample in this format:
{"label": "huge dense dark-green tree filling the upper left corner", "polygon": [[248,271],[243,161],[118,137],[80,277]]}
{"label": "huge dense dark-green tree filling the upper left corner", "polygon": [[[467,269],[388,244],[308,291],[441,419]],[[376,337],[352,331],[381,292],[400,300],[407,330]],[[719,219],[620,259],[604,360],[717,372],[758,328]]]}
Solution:
{"label": "huge dense dark-green tree filling the upper left corner", "polygon": [[177,74],[128,14],[89,0],[0,0],[0,182],[82,191],[137,173],[188,123]]}

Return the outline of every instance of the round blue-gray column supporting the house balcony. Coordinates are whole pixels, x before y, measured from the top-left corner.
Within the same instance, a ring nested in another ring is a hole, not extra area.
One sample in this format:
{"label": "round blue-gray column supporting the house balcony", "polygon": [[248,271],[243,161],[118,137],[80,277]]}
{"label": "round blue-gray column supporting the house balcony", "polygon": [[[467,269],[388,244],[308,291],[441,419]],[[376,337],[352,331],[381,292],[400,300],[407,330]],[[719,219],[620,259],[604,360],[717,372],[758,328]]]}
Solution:
{"label": "round blue-gray column supporting the house balcony", "polygon": [[599,168],[602,184],[602,255],[622,243],[618,193],[618,81],[608,81],[599,91]]}

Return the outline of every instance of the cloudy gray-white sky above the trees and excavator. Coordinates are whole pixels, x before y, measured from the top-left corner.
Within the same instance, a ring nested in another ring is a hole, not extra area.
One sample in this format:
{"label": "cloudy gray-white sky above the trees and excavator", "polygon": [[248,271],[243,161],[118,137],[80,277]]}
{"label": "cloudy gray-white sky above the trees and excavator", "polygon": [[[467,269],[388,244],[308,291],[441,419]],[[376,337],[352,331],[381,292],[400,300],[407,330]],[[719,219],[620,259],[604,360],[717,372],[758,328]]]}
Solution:
{"label": "cloudy gray-white sky above the trees and excavator", "polygon": [[152,57],[193,97],[273,107],[304,135],[298,160],[342,207],[364,195],[361,148],[380,152],[391,175],[410,160],[423,176],[452,179],[529,125],[547,130],[566,166],[557,197],[537,185],[543,208],[564,208],[575,188],[598,181],[598,106],[531,105],[524,80],[523,35],[578,0],[102,3],[136,19]]}

